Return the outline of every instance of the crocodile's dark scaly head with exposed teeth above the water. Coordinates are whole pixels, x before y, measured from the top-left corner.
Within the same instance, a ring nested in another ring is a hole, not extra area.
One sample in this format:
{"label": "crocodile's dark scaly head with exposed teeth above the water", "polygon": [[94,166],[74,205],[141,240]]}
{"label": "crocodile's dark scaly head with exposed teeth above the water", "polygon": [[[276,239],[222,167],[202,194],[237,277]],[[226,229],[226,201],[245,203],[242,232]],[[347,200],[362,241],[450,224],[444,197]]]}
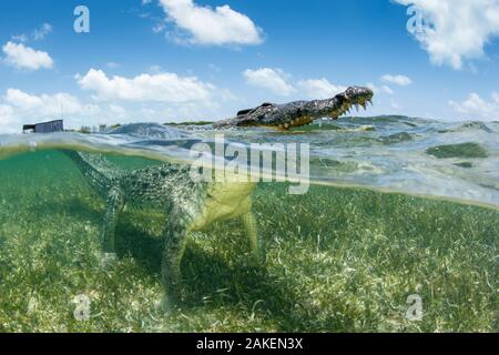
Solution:
{"label": "crocodile's dark scaly head with exposed teeth above the water", "polygon": [[287,130],[322,118],[337,120],[353,108],[367,109],[367,103],[371,102],[373,97],[373,90],[368,88],[350,87],[327,100],[297,101],[287,104],[264,103],[255,109],[241,111],[235,119],[215,123],[214,126],[217,129],[271,126]]}

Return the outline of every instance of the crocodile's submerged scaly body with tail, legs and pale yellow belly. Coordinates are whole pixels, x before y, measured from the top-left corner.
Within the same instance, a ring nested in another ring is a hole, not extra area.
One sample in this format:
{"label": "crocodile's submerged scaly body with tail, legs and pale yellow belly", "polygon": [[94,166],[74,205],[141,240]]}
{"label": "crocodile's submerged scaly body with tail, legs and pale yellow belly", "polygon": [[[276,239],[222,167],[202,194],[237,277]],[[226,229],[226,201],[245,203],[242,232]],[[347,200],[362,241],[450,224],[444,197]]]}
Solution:
{"label": "crocodile's submerged scaly body with tail, legs and pale yellow belly", "polygon": [[101,155],[63,152],[77,164],[89,184],[106,200],[101,234],[104,252],[114,253],[115,227],[125,205],[154,206],[165,211],[162,280],[166,308],[180,301],[181,261],[192,231],[203,230],[216,221],[240,217],[256,260],[265,262],[264,242],[258,237],[252,213],[254,183],[193,182],[189,166],[170,164],[129,173]]}

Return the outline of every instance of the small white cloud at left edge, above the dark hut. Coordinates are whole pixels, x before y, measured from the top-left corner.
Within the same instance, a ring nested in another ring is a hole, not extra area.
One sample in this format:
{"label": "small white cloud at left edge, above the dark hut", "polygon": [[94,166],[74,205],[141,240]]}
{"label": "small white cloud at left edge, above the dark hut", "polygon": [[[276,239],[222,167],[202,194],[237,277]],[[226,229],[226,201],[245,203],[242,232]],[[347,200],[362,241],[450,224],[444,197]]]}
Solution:
{"label": "small white cloud at left edge, above the dark hut", "polygon": [[22,43],[8,42],[2,50],[7,55],[3,59],[4,62],[18,69],[39,70],[53,67],[53,60],[49,53],[37,51]]}

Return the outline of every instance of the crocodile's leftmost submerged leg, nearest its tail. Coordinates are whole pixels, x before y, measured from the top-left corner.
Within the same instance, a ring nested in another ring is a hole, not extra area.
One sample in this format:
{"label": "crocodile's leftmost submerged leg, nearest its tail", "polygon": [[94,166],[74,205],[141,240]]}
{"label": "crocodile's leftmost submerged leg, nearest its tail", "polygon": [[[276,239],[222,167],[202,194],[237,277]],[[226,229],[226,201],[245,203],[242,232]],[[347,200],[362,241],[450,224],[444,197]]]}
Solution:
{"label": "crocodile's leftmost submerged leg, nearest its tail", "polygon": [[118,219],[123,206],[123,192],[119,187],[111,189],[108,195],[104,227],[102,229],[101,234],[101,243],[104,253],[115,253],[114,234],[116,231]]}

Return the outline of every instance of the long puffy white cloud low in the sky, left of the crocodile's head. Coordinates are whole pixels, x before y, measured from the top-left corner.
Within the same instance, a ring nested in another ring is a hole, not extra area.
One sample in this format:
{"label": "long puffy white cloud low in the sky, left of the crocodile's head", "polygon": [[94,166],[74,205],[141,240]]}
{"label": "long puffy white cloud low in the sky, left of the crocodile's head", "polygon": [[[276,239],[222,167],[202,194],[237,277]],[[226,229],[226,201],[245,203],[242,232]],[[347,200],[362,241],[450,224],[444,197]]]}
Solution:
{"label": "long puffy white cloud low in the sky, left of the crocodile's head", "polygon": [[186,103],[203,102],[216,88],[195,77],[181,78],[174,73],[140,74],[135,78],[108,75],[102,70],[90,69],[77,75],[81,89],[92,91],[99,100]]}

